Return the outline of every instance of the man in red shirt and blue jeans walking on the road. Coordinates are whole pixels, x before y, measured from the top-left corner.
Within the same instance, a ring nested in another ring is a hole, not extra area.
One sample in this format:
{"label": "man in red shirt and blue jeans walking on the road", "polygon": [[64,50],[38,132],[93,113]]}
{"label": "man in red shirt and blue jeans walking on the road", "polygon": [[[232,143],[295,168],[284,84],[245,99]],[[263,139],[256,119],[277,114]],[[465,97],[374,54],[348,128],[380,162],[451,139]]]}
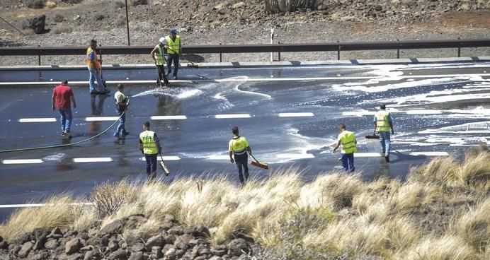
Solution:
{"label": "man in red shirt and blue jeans walking on the road", "polygon": [[69,87],[68,81],[65,79],[62,81],[61,85],[57,85],[54,90],[52,90],[51,97],[51,109],[55,111],[55,108],[61,114],[61,124],[62,124],[62,136],[72,137],[70,133],[70,126],[72,126],[72,104],[73,108],[76,108],[75,97],[72,92],[72,88]]}

